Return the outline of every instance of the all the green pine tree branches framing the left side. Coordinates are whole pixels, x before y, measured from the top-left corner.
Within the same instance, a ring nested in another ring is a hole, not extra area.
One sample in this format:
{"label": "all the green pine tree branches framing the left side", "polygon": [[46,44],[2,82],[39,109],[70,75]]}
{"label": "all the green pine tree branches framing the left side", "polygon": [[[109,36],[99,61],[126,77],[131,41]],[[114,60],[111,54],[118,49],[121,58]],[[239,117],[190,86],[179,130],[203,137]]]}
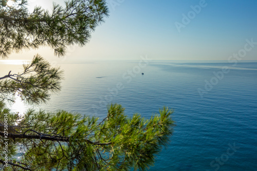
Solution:
{"label": "all the green pine tree branches framing the left side", "polygon": [[[26,1],[0,6],[0,55],[49,46],[64,55],[66,46],[88,42],[90,33],[107,16],[102,0],[71,0],[52,12]],[[145,119],[139,113],[127,117],[124,108],[111,104],[99,121],[67,111],[29,109],[24,116],[5,105],[16,94],[27,103],[40,104],[60,91],[62,72],[39,54],[20,73],[0,78],[0,169],[4,170],[146,170],[169,143],[173,110],[163,107]],[[22,151],[22,154],[19,153]],[[17,160],[17,155],[21,159]]]}

